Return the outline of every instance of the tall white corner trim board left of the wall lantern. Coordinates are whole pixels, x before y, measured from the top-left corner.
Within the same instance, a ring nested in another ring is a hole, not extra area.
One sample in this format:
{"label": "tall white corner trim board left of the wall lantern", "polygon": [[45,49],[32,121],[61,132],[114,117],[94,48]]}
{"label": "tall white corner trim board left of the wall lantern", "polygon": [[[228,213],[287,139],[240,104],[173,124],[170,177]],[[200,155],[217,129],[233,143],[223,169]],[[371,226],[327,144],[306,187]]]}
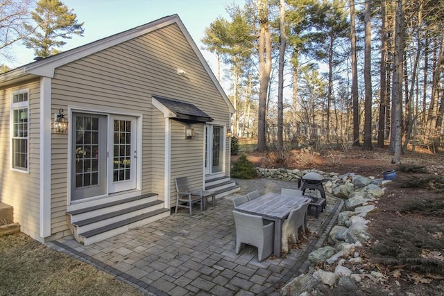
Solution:
{"label": "tall white corner trim board left of the wall lantern", "polygon": [[51,78],[40,79],[40,237],[51,236]]}

